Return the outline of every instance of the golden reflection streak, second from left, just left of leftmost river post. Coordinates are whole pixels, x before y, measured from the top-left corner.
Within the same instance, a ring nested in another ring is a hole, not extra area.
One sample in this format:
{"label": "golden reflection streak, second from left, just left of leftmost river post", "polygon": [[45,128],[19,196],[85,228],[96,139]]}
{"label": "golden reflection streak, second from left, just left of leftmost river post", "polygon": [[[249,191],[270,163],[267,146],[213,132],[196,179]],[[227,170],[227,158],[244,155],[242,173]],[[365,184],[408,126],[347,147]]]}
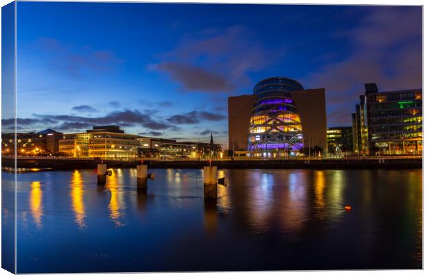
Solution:
{"label": "golden reflection streak, second from left, just left of leftmost river post", "polygon": [[79,228],[84,228],[85,225],[85,202],[83,200],[84,195],[83,179],[79,170],[74,170],[71,178],[71,203],[72,210],[74,212],[74,221],[76,221]]}

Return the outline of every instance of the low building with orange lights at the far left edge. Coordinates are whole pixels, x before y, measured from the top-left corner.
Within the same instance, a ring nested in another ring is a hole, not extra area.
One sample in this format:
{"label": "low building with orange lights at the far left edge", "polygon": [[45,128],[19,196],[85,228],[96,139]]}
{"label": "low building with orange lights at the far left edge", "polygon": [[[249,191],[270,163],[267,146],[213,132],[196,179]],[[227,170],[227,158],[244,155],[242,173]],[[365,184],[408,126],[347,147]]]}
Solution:
{"label": "low building with orange lights at the far left edge", "polygon": [[[32,133],[17,133],[17,155],[50,155],[59,151],[58,140],[62,133],[45,129]],[[1,135],[1,152],[14,155],[14,133]]]}

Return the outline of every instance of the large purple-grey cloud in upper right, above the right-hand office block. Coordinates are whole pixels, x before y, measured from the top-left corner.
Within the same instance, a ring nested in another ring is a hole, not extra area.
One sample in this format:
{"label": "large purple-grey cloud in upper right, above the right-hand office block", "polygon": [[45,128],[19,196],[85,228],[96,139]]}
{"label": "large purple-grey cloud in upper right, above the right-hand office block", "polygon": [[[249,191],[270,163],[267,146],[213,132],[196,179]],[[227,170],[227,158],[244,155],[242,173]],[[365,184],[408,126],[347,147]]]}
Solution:
{"label": "large purple-grey cloud in upper right, above the right-hand office block", "polygon": [[[326,89],[326,102],[335,109],[328,114],[330,125],[351,123],[364,83],[377,83],[379,91],[421,87],[421,20],[419,7],[376,7],[356,28],[337,34],[351,41],[353,54],[327,63],[304,80]],[[346,110],[337,111],[335,105]]]}

